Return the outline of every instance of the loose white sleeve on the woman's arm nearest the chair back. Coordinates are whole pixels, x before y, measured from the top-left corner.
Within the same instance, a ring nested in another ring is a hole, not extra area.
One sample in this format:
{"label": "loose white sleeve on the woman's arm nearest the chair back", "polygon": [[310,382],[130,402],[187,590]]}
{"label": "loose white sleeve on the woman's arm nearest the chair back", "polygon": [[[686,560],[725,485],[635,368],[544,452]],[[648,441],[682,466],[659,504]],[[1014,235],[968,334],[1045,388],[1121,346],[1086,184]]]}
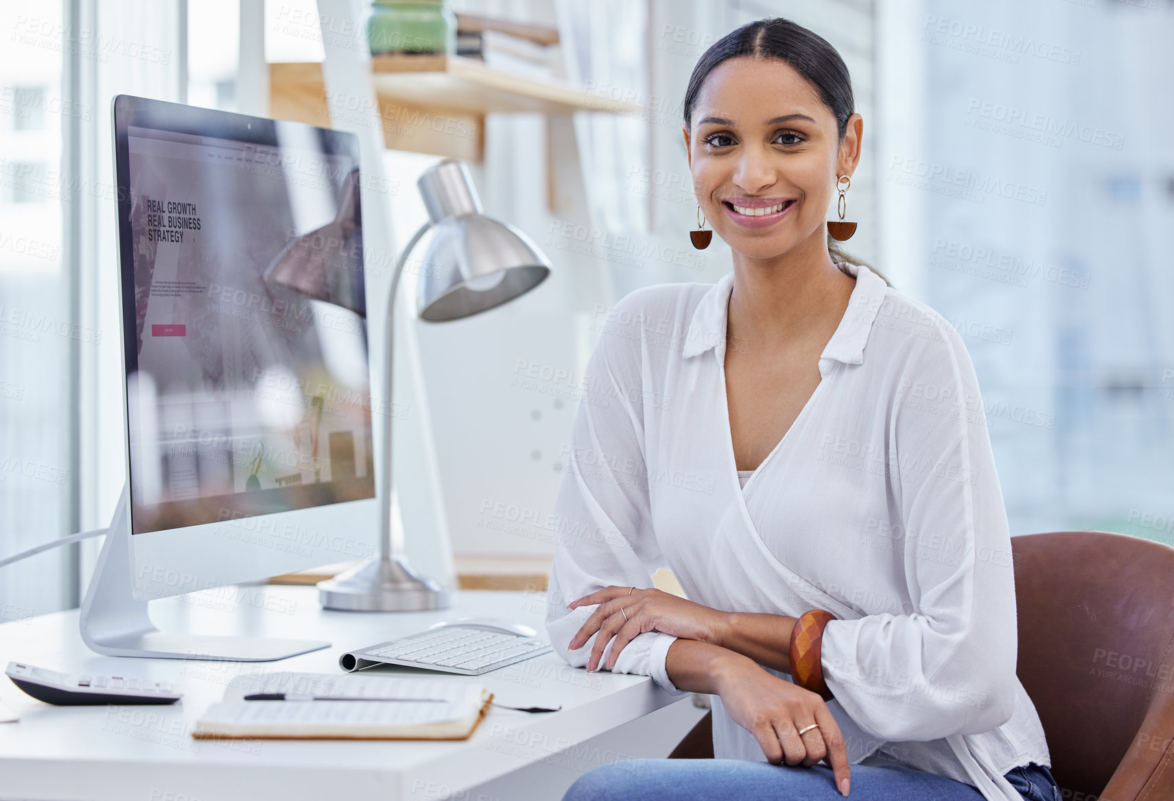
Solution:
{"label": "loose white sleeve on the woman's arm nearest the chair back", "polygon": [[[936,740],[1006,722],[1016,699],[1016,588],[978,380],[937,318],[891,399],[889,493],[899,512],[902,613],[831,620],[823,677],[870,734]],[[926,391],[926,387],[930,391]]]}

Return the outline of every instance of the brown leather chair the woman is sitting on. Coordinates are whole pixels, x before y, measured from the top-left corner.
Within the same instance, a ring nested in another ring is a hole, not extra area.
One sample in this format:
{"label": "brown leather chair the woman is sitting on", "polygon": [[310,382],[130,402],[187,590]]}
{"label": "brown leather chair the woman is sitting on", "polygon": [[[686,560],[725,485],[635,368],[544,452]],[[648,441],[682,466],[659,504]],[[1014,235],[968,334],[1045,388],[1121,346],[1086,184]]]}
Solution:
{"label": "brown leather chair the woman is sitting on", "polygon": [[[1012,537],[1017,673],[1064,801],[1174,801],[1174,548],[1105,531]],[[673,759],[713,756],[709,715]]]}

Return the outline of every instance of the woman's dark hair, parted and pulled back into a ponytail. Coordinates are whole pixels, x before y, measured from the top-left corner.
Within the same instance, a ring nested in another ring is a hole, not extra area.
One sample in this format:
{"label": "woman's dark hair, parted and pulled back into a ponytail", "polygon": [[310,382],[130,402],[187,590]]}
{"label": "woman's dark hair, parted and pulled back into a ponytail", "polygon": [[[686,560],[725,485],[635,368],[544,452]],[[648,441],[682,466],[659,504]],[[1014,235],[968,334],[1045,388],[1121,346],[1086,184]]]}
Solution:
{"label": "woman's dark hair, parted and pulled back into a ponytail", "polygon": [[[823,104],[836,117],[839,138],[844,138],[848,118],[856,111],[852,79],[848,74],[848,66],[826,39],[781,16],[747,22],[718,39],[701,55],[684,90],[686,128],[693,129],[693,107],[697,103],[697,95],[701,94],[701,87],[709,77],[709,73],[718,65],[740,57],[769,59],[788,63],[819,93]],[[842,250],[830,236],[828,252],[836,262],[863,265],[876,272],[876,269],[868,263]],[[888,278],[885,283],[892,285]]]}

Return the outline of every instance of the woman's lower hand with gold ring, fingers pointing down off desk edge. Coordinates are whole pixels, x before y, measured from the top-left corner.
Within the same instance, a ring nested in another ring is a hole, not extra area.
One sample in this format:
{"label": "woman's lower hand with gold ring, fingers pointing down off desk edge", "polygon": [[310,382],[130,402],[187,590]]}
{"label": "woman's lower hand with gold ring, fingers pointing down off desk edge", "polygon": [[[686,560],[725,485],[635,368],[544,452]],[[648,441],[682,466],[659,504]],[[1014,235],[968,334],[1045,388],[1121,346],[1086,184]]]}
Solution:
{"label": "woman's lower hand with gold ring, fingers pointing down off desk edge", "polygon": [[[716,678],[726,712],[750,732],[774,765],[811,767],[826,760],[841,795],[848,795],[848,749],[824,700],[762,670],[753,659],[727,660]],[[815,728],[798,732],[816,724]]]}

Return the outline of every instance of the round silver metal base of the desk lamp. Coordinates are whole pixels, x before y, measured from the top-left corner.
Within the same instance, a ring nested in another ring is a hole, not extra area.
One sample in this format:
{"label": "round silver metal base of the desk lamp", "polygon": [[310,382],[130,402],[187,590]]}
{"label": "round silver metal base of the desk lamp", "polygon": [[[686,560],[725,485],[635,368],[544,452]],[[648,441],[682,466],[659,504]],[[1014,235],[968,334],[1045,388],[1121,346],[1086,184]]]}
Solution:
{"label": "round silver metal base of the desk lamp", "polygon": [[404,557],[367,559],[318,582],[323,609],[346,612],[421,612],[448,609],[448,591],[420,576]]}

